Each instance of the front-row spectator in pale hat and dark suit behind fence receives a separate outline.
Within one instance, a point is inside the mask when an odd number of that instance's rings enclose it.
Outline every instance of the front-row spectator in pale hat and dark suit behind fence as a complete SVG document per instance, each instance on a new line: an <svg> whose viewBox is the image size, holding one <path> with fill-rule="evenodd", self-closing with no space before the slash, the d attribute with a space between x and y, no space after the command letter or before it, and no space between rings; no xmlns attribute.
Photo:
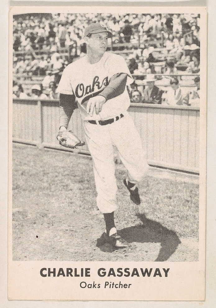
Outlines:
<svg viewBox="0 0 216 308"><path fill-rule="evenodd" d="M161 104L163 91L155 86L156 79L154 75L147 75L145 82L145 89L143 92L143 103Z"/></svg>

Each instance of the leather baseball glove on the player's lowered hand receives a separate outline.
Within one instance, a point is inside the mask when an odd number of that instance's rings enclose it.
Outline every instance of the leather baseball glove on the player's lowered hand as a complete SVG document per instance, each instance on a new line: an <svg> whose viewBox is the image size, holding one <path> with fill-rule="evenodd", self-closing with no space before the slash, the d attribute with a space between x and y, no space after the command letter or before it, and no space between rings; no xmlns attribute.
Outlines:
<svg viewBox="0 0 216 308"><path fill-rule="evenodd" d="M71 130L59 131L57 140L63 147L69 147L71 149L74 149L78 146L83 146L85 144L85 142L80 141L80 139L77 138Z"/></svg>

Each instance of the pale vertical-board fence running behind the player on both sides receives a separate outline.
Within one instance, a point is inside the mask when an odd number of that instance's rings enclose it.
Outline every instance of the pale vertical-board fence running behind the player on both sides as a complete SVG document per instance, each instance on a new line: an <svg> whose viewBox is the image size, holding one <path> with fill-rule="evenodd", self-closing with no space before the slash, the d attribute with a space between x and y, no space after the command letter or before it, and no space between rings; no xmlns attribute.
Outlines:
<svg viewBox="0 0 216 308"><path fill-rule="evenodd" d="M13 100L13 141L62 149L56 135L57 100ZM128 109L138 129L150 165L199 173L199 107L131 104ZM75 110L69 128L85 139L83 121ZM87 146L73 150L90 154Z"/></svg>

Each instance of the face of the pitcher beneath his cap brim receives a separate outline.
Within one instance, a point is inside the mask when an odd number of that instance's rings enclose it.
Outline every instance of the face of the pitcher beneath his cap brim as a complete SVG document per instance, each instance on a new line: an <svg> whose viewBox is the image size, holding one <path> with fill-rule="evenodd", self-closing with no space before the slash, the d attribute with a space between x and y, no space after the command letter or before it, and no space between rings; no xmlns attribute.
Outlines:
<svg viewBox="0 0 216 308"><path fill-rule="evenodd" d="M108 46L107 39L107 32L95 33L92 34L91 37L88 39L88 44L90 48L95 51L95 53L104 54Z"/></svg>

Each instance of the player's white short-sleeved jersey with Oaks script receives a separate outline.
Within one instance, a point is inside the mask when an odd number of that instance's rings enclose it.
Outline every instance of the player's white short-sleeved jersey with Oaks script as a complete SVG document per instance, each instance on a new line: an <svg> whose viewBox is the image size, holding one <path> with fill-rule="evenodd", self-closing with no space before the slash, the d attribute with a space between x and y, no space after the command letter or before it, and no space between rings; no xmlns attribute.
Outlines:
<svg viewBox="0 0 216 308"><path fill-rule="evenodd" d="M134 81L122 56L105 52L99 62L94 64L90 64L87 56L84 56L64 69L56 92L76 96L83 120L110 119L123 113L130 106L126 88L121 95L108 100L98 115L94 110L93 116L90 117L86 112L86 105L91 97L103 91L110 78L117 73L128 75L127 85Z"/></svg>

